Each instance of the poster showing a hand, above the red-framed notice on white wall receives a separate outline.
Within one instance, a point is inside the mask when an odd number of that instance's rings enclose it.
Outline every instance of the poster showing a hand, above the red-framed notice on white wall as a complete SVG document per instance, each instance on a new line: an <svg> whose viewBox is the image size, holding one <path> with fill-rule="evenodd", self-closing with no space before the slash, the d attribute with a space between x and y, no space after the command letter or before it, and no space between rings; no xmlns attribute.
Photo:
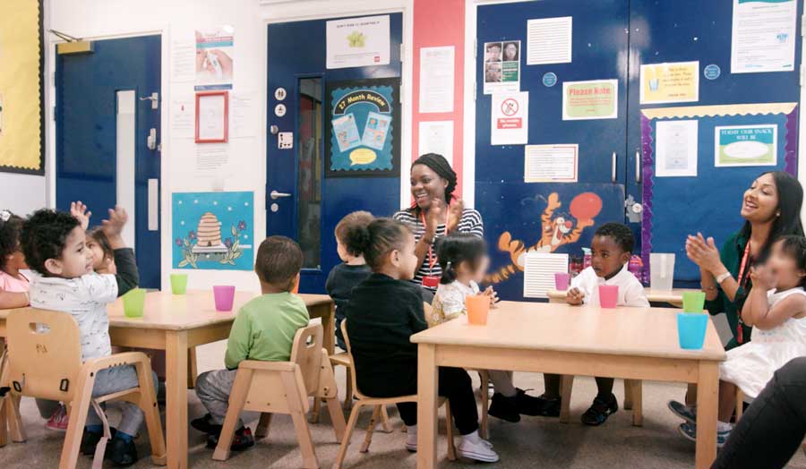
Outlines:
<svg viewBox="0 0 806 469"><path fill-rule="evenodd" d="M196 90L232 90L235 30L196 30Z"/></svg>

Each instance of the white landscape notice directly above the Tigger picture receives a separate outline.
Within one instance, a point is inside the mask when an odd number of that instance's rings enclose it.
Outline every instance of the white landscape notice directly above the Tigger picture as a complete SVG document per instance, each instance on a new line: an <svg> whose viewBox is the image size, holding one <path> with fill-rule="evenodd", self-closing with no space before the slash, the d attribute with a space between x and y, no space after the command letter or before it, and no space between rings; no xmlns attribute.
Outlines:
<svg viewBox="0 0 806 469"><path fill-rule="evenodd" d="M579 145L527 145L524 148L525 183L576 183Z"/></svg>

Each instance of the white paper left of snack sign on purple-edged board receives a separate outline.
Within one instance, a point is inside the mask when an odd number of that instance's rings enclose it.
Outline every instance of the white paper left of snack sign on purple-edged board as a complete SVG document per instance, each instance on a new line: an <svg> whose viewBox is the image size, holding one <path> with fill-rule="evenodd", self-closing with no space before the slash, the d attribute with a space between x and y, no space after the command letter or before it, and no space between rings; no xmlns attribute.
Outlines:
<svg viewBox="0 0 806 469"><path fill-rule="evenodd" d="M697 121L658 121L656 177L697 175Z"/></svg>

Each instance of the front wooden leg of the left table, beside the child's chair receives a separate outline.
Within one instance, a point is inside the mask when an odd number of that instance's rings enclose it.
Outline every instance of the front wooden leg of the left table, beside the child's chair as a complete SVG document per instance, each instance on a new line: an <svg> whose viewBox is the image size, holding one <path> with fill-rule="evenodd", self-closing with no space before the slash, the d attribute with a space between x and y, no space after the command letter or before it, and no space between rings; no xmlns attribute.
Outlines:
<svg viewBox="0 0 806 469"><path fill-rule="evenodd" d="M167 467L187 467L187 332L169 330L165 337Z"/></svg>

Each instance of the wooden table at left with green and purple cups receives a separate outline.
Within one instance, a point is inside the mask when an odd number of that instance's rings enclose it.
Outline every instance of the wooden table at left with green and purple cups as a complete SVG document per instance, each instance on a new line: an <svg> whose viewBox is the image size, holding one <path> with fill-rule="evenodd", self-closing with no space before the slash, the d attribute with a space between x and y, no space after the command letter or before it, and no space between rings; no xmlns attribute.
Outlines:
<svg viewBox="0 0 806 469"><path fill-rule="evenodd" d="M257 294L237 292L233 311L215 311L211 291L146 294L142 318L126 318L120 300L109 305L109 336L112 345L153 348L166 352L166 444L167 466L187 467L188 354L198 345L229 337L236 312ZM329 354L335 347L334 306L325 294L301 294L311 318L321 318L323 345ZM5 337L5 318L13 310L0 310L0 337ZM223 360L223 356L221 359Z"/></svg>

